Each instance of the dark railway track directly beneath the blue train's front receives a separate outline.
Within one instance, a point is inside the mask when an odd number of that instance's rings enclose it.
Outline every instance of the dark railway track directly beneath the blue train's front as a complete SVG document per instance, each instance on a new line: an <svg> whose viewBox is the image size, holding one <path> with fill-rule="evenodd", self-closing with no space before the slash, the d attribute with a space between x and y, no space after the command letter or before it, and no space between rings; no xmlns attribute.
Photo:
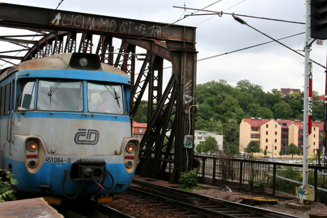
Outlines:
<svg viewBox="0 0 327 218"><path fill-rule="evenodd" d="M68 201L65 205L54 208L65 218L134 218L126 213L115 210L106 205L97 206L90 199Z"/></svg>

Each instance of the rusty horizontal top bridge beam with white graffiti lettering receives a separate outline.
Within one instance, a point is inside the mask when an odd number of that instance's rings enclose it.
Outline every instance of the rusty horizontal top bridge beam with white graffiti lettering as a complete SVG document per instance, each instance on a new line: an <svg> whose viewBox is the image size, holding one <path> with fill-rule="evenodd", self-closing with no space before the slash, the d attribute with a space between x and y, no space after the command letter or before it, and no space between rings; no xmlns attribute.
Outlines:
<svg viewBox="0 0 327 218"><path fill-rule="evenodd" d="M2 3L0 23L2 26L15 26L16 28L33 26L37 29L43 26L43 30L84 30L157 40L195 42L194 27L179 25L166 27L168 24L72 11L56 10L53 14L52 12L53 9ZM52 15L49 18L50 14ZM166 28L160 30L164 27Z"/></svg>

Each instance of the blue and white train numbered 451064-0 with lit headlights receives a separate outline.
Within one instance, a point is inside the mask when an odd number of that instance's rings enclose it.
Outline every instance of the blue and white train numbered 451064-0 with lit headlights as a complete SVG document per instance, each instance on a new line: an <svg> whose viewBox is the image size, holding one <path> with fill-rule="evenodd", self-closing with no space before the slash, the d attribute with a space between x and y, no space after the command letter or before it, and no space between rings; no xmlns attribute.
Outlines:
<svg viewBox="0 0 327 218"><path fill-rule="evenodd" d="M128 188L139 142L125 72L66 53L0 73L0 168L16 175L17 190L74 199Z"/></svg>

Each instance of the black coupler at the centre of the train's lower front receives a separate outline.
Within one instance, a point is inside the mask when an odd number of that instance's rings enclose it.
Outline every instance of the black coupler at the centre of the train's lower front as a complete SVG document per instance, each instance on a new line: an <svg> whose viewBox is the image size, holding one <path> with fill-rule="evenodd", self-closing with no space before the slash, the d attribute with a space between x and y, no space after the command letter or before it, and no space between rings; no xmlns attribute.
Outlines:
<svg viewBox="0 0 327 218"><path fill-rule="evenodd" d="M70 178L75 181L102 181L107 167L104 159L77 160L70 170Z"/></svg>

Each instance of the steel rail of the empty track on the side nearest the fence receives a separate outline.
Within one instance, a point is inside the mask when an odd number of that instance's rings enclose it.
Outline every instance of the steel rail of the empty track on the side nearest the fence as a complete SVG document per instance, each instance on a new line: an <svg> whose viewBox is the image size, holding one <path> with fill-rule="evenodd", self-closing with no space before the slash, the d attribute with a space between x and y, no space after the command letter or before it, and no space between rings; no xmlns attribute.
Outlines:
<svg viewBox="0 0 327 218"><path fill-rule="evenodd" d="M270 217L270 218L271 217L298 218L298 216L293 216L293 215L289 215L289 214L285 214L285 213L280 213L280 212L275 212L275 211L271 211L271 210L267 210L267 209L249 206L249 205L230 202L230 201L226 201L226 200L222 200L222 199L212 198L212 197L208 197L205 195L196 194L196 193L192 193L192 192L188 192L188 191L183 191L183 190L179 190L179 189L175 189L175 188L170 188L167 186L161 186L161 185L157 185L157 184L153 184L153 183L149 183L149 182L145 182L145 181L141 181L141 180L133 179L132 185L133 184L137 184L139 186L145 187L148 190L151 190L151 192L155 192L158 195L161 195L161 196L165 195L166 198L168 196L171 196L172 198L175 199L175 201L181 200L183 202L189 201L191 203L191 202L194 202L194 199L198 199L201 201L218 204L217 206L230 207L231 209L235 209L238 211L246 211L249 213L248 215L250 215L251 213L252 214L255 213L258 216ZM137 187L133 187L133 188L140 189ZM145 189L142 189L142 191L146 192ZM221 213L224 214L223 212L221 212ZM238 215L235 215L235 216L239 217Z"/></svg>

